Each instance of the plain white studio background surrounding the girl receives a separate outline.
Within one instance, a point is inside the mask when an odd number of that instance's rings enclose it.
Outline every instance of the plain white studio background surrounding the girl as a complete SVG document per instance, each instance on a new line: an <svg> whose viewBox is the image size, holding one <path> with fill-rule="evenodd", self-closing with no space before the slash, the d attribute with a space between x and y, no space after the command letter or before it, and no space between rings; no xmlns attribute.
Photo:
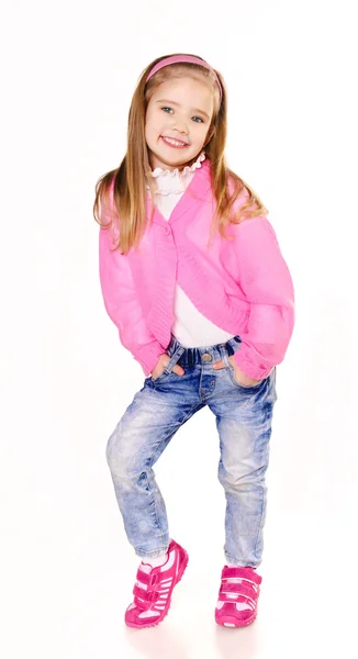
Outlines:
<svg viewBox="0 0 358 659"><path fill-rule="evenodd" d="M357 651L355 2L20 2L1 10L1 638L4 659L301 659ZM137 558L105 445L142 387L98 277L97 179L142 70L198 54L228 89L230 166L269 209L297 294L278 368L259 616L215 626L224 493L199 412L156 473L189 568L133 632Z"/></svg>

